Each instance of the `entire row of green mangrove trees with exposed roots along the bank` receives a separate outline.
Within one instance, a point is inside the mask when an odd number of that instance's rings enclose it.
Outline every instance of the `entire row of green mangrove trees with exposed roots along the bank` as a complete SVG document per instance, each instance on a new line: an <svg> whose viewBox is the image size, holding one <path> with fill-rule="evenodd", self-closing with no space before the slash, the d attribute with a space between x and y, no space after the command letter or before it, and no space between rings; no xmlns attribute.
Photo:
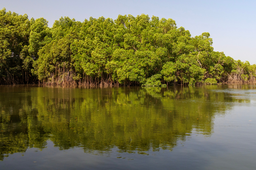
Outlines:
<svg viewBox="0 0 256 170"><path fill-rule="evenodd" d="M0 84L161 86L255 82L256 65L215 52L209 33L191 37L148 15L44 18L0 11Z"/></svg>

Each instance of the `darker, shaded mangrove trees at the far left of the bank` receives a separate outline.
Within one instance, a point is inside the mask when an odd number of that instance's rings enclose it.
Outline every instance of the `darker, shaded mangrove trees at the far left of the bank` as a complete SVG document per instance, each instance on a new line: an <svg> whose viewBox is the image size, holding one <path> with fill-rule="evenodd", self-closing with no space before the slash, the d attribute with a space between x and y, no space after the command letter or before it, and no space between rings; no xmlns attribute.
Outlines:
<svg viewBox="0 0 256 170"><path fill-rule="evenodd" d="M28 53L30 25L26 14L0 10L0 84L27 82L32 68Z"/></svg>

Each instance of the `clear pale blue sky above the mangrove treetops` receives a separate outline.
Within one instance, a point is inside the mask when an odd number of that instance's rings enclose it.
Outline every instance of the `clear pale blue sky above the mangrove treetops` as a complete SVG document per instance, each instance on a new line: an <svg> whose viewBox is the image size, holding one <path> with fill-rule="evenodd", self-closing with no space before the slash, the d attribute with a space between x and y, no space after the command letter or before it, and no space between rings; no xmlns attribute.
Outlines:
<svg viewBox="0 0 256 170"><path fill-rule="evenodd" d="M209 32L214 51L224 52L235 60L256 64L256 1L193 0L0 0L0 8L29 18L45 18L52 27L61 16L83 22L90 17L112 18L119 14L172 18L177 27L189 30L191 36Z"/></svg>

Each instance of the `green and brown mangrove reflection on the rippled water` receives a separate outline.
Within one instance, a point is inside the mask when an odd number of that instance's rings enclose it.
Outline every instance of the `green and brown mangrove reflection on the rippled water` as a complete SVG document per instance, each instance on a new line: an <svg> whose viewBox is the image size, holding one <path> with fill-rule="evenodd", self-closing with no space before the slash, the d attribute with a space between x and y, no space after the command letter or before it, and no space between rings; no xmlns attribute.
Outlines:
<svg viewBox="0 0 256 170"><path fill-rule="evenodd" d="M214 114L232 107L227 88L249 86L38 88L1 86L0 160L27 148L147 154L172 150L195 131L213 133ZM244 101L244 102L249 102Z"/></svg>

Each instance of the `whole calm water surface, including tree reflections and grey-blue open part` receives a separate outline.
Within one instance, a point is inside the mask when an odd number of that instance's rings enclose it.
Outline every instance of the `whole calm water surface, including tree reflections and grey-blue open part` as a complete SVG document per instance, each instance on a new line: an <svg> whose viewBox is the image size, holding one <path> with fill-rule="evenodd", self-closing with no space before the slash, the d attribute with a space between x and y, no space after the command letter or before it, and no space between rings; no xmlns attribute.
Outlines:
<svg viewBox="0 0 256 170"><path fill-rule="evenodd" d="M256 85L0 86L0 169L256 169Z"/></svg>

